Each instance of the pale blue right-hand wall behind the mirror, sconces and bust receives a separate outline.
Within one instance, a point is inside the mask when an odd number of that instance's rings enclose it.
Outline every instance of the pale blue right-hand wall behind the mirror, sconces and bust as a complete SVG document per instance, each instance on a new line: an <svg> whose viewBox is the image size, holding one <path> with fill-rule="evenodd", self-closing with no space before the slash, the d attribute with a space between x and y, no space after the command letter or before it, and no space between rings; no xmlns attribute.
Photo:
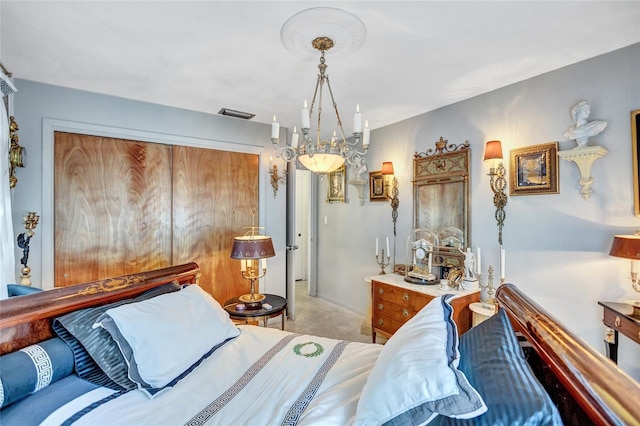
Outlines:
<svg viewBox="0 0 640 426"><path fill-rule="evenodd" d="M416 84L420 84L416 82ZM507 281L516 284L588 343L603 350L599 300L640 299L631 289L627 261L608 256L616 233L640 228L633 216L630 111L640 109L640 45L544 74L530 80L414 117L372 133L369 170L393 161L400 184L397 263L406 262L405 242L412 223L414 151L434 147L443 136L450 143L471 144L472 237L482 247L483 266L499 265L489 165L484 143L502 141L507 161L513 148L563 141L572 124L571 108L591 103L591 120L607 128L590 140L609 153L592 169L593 195L584 200L574 163L560 160L558 195L509 197L504 227ZM352 172L350 170L350 172ZM388 203L360 206L353 187L349 203L327 204L321 185L319 294L366 313L370 296L363 279L379 271L375 237L392 237ZM485 269L486 270L486 269ZM640 347L620 338L620 365L640 380Z"/></svg>

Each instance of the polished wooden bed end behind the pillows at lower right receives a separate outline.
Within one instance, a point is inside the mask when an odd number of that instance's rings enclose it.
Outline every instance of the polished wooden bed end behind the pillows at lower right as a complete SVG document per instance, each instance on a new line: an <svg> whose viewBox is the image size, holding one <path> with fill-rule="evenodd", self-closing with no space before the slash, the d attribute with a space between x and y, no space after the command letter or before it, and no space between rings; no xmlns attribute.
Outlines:
<svg viewBox="0 0 640 426"><path fill-rule="evenodd" d="M514 285L496 297L535 350L530 364L567 424L640 424L640 384Z"/></svg>

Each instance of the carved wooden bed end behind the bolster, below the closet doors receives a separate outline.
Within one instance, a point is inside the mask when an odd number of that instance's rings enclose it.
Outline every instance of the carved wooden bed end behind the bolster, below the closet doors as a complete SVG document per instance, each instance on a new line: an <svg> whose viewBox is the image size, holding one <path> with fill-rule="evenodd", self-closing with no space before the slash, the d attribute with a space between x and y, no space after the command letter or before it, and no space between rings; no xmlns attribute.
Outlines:
<svg viewBox="0 0 640 426"><path fill-rule="evenodd" d="M53 337L51 321L90 306L136 297L162 284L197 283L196 263L92 281L0 300L0 355Z"/></svg>

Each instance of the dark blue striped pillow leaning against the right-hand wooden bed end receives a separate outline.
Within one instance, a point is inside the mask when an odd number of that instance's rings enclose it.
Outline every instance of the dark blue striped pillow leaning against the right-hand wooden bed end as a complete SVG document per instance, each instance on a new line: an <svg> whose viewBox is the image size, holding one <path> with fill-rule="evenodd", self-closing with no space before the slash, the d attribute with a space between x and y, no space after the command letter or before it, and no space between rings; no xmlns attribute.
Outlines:
<svg viewBox="0 0 640 426"><path fill-rule="evenodd" d="M440 417L441 425L561 425L504 310L460 337L460 370L482 395L487 412L472 419Z"/></svg>

